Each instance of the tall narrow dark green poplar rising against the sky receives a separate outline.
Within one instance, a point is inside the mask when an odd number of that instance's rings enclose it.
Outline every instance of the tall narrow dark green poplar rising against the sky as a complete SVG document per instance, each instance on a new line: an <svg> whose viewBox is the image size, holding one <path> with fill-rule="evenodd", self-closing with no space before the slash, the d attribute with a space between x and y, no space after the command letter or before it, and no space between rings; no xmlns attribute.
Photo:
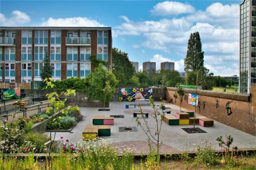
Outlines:
<svg viewBox="0 0 256 170"><path fill-rule="evenodd" d="M202 52L202 43L199 32L191 33L188 40L188 50L184 61L184 70L193 72L204 66L204 52Z"/></svg>

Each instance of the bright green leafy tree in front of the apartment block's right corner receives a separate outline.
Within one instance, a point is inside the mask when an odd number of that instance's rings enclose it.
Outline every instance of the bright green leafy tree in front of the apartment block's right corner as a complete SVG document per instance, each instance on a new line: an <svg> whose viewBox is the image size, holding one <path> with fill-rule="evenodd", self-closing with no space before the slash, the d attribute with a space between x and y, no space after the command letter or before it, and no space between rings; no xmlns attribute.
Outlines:
<svg viewBox="0 0 256 170"><path fill-rule="evenodd" d="M115 87L118 81L110 70L103 68L101 63L98 67L95 67L94 72L88 75L85 79L86 83L88 84L86 90L88 99L100 100L108 103L115 94ZM106 82L109 82L111 92L105 98L103 89L106 86Z"/></svg>

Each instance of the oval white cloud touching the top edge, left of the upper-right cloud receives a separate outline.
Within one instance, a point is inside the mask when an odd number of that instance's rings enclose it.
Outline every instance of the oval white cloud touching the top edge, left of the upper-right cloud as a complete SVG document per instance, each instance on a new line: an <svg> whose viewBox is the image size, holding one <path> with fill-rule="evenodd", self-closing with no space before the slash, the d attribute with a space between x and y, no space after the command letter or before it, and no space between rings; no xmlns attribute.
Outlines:
<svg viewBox="0 0 256 170"><path fill-rule="evenodd" d="M153 15L179 15L185 13L195 12L195 8L190 4L174 2L174 1L165 1L156 4L152 10L150 10Z"/></svg>

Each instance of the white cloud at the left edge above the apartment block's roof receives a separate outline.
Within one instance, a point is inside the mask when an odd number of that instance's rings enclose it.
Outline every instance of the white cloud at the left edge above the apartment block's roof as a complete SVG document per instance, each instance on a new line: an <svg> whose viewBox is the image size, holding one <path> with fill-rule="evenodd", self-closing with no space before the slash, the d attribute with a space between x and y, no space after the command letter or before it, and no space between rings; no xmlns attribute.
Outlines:
<svg viewBox="0 0 256 170"><path fill-rule="evenodd" d="M19 26L30 21L30 17L25 13L18 10L12 11L11 17L6 18L6 16L0 13L0 25L1 26Z"/></svg>

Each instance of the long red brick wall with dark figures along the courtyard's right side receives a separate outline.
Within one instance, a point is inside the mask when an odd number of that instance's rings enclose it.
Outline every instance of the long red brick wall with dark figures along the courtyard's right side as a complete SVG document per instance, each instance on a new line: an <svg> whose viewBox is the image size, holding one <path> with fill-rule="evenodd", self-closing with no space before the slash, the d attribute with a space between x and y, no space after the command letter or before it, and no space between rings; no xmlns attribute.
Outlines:
<svg viewBox="0 0 256 170"><path fill-rule="evenodd" d="M167 100L173 99L173 104L180 106L179 96L176 100L173 98L173 92L175 88L167 88L166 98ZM185 90L186 95L195 90ZM226 124L238 130L250 133L256 136L256 85L251 85L251 96L246 97L238 94L224 94L218 92L198 92L198 101L201 103L201 109L199 111L198 106L196 107L196 113L203 116L212 118L215 121ZM221 97L220 97L221 96ZM218 99L219 107L216 108L216 100ZM203 109L203 102L205 101L205 109ZM229 105L231 115L227 114L226 103L232 101ZM182 100L181 107L195 110L195 107L189 105L185 100L185 97Z"/></svg>

